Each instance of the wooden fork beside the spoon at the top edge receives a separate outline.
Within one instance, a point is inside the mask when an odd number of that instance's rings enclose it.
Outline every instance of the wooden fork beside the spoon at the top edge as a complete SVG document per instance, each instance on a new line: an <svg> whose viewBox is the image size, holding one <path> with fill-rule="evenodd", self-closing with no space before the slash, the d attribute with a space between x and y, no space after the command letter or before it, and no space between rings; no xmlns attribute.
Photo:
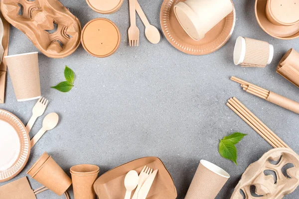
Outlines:
<svg viewBox="0 0 299 199"><path fill-rule="evenodd" d="M139 46L139 29L136 25L136 0L129 0L130 28L128 30L130 46Z"/></svg>

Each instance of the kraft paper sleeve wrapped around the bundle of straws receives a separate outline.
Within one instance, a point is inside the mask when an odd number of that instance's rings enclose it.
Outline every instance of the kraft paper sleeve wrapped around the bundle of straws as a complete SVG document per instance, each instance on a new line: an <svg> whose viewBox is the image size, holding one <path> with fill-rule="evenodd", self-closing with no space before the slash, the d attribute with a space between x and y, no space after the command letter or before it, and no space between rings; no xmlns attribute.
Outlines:
<svg viewBox="0 0 299 199"><path fill-rule="evenodd" d="M270 91L267 101L299 114L299 103Z"/></svg>

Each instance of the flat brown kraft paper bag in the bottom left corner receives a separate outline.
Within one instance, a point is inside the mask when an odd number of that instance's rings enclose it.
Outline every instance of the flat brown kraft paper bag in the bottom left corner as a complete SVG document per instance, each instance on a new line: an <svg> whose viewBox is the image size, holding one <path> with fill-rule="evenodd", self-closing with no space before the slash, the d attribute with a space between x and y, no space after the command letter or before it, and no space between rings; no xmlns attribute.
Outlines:
<svg viewBox="0 0 299 199"><path fill-rule="evenodd" d="M0 199L36 199L26 177L0 187Z"/></svg>

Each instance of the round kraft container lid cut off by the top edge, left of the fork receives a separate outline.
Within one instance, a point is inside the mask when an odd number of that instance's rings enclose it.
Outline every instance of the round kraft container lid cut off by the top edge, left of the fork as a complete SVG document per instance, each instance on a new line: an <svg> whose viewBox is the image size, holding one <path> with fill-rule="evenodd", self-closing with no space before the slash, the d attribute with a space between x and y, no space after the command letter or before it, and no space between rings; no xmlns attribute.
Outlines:
<svg viewBox="0 0 299 199"><path fill-rule="evenodd" d="M96 12L111 14L122 6L124 0L86 0L86 2Z"/></svg>

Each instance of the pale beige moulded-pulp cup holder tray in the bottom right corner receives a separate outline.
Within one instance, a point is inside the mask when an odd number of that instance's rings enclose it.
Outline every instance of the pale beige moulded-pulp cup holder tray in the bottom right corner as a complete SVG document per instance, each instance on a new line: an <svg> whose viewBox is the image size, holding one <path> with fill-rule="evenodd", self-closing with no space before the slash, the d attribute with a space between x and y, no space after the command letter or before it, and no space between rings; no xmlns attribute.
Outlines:
<svg viewBox="0 0 299 199"><path fill-rule="evenodd" d="M298 173L299 156L294 151L286 148L272 149L249 165L231 199L243 199L243 195L245 199L282 199L298 187Z"/></svg>

